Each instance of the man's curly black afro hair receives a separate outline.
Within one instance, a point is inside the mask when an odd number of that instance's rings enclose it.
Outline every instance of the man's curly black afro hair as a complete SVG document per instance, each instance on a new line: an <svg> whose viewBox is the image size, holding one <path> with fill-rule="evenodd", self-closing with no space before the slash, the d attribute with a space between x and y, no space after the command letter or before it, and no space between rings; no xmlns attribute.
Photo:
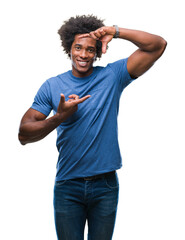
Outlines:
<svg viewBox="0 0 185 240"><path fill-rule="evenodd" d="M103 20L93 15L77 15L76 17L71 17L69 20L65 21L58 30L64 52L70 57L71 46L76 34L89 33L103 26L105 26ZM101 58L102 43L99 40L96 41L96 54L98 58Z"/></svg>

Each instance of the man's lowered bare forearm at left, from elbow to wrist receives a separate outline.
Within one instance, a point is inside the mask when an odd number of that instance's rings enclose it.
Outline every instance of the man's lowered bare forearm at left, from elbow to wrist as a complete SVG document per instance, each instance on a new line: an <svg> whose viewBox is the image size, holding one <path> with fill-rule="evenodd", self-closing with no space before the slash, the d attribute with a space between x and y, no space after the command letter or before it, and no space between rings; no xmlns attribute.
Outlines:
<svg viewBox="0 0 185 240"><path fill-rule="evenodd" d="M19 128L19 141L22 145L39 141L56 129L61 122L61 117L56 114L45 120L22 123Z"/></svg>

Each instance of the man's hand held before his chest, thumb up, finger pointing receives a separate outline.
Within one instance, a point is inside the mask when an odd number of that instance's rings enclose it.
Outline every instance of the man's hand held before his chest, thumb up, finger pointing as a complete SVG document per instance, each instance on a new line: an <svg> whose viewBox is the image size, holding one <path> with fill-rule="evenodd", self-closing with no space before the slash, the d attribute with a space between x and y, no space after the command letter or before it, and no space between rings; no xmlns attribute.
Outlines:
<svg viewBox="0 0 185 240"><path fill-rule="evenodd" d="M87 95L85 97L79 98L78 95L72 94L68 96L69 100L65 101L64 94L61 94L60 96L60 102L56 114L61 117L62 122L78 110L79 103L84 102L90 97L90 95Z"/></svg>

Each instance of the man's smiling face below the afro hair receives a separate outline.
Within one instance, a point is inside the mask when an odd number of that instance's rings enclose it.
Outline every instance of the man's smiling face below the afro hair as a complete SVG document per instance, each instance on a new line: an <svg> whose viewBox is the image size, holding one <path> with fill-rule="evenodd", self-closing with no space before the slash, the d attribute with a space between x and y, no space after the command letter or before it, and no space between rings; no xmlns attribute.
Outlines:
<svg viewBox="0 0 185 240"><path fill-rule="evenodd" d="M96 58L96 40L90 37L75 36L71 46L72 73L75 77L87 77L93 71Z"/></svg>

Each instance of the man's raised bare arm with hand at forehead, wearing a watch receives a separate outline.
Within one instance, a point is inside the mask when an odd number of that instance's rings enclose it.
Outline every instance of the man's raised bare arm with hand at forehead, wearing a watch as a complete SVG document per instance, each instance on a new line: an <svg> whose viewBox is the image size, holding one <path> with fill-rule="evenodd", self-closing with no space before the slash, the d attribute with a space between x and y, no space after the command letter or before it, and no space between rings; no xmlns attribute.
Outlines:
<svg viewBox="0 0 185 240"><path fill-rule="evenodd" d="M102 27L84 36L90 36L102 42L102 52L106 53L107 44L115 35L115 27ZM119 28L119 38L134 43L138 49L128 58L127 69L135 78L145 73L163 54L167 42L160 36L138 30Z"/></svg>

